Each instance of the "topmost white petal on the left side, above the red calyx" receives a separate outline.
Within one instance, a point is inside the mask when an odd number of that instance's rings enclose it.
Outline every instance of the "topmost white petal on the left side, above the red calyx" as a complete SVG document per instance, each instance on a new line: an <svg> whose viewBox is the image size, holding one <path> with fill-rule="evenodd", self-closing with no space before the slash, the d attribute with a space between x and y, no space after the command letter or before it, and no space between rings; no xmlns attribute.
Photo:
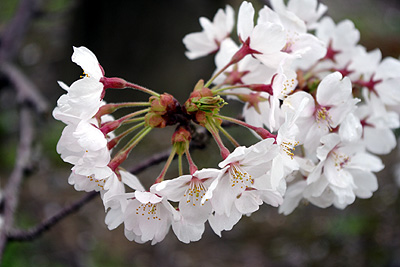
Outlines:
<svg viewBox="0 0 400 267"><path fill-rule="evenodd" d="M75 47L72 54L72 61L78 64L89 77L100 80L103 77L103 72L100 69L99 61L92 51L84 46Z"/></svg>

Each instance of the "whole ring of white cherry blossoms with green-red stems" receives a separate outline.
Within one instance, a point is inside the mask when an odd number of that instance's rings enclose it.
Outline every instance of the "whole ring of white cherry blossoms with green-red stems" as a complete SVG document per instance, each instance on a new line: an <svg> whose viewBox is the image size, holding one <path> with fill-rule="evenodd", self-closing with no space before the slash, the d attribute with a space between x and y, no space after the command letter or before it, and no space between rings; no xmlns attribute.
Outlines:
<svg viewBox="0 0 400 267"><path fill-rule="evenodd" d="M186 55L215 54L216 70L196 84L184 104L170 94L105 77L92 52L74 48L72 60L85 75L70 87L60 83L67 94L53 115L67 126L57 151L74 165L69 183L75 189L100 192L109 229L123 224L129 240L155 244L172 227L188 243L201 238L207 221L221 235L263 203L283 214L302 200L343 209L378 189L374 173L384 166L376 155L396 146L400 62L382 60L378 49L366 51L353 23L323 17L327 8L316 0L287 5L271 0L271 6L264 6L255 22L252 4L243 2L237 35L230 6L218 10L213 21L200 18L203 30L183 39ZM134 88L151 97L106 104L108 88ZM243 103L243 120L220 114L228 100ZM117 120L110 115L130 107L142 109ZM224 121L250 129L259 141L240 146ZM121 131L122 125L131 126ZM171 154L145 189L120 165L148 132L172 125ZM219 168L199 170L194 163L189 144L197 127L217 143ZM221 134L235 149L225 146ZM165 179L175 156L180 176Z"/></svg>

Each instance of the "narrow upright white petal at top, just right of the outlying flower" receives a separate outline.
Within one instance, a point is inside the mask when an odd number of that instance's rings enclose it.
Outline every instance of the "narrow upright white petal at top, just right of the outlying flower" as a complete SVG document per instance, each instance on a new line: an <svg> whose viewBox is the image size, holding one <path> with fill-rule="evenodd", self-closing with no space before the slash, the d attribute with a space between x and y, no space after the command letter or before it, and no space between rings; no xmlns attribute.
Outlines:
<svg viewBox="0 0 400 267"><path fill-rule="evenodd" d="M237 32L240 39L243 42L250 37L250 34L254 28L254 8L249 2L244 1L238 14Z"/></svg>

